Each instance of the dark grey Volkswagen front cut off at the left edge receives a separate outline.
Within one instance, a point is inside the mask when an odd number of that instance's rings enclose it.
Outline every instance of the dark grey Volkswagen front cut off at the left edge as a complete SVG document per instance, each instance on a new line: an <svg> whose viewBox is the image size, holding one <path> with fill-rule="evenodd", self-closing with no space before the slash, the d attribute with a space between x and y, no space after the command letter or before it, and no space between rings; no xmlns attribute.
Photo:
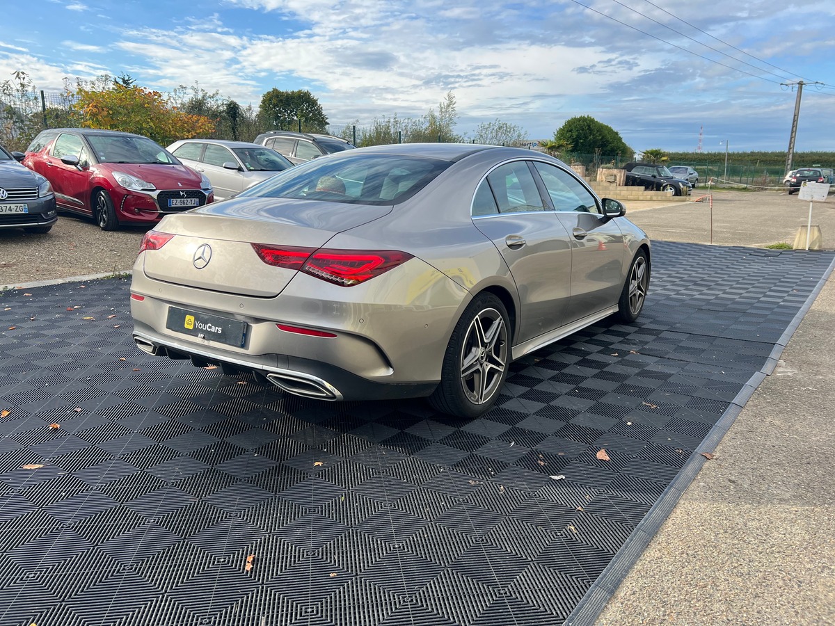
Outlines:
<svg viewBox="0 0 835 626"><path fill-rule="evenodd" d="M58 221L52 184L23 167L22 152L0 146L0 228L48 233Z"/></svg>

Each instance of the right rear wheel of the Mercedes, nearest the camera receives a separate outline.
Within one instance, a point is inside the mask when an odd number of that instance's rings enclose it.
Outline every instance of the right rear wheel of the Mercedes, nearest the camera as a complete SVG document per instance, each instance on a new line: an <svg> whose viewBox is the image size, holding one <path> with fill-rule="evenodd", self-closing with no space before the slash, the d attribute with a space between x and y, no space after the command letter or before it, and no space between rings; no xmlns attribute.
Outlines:
<svg viewBox="0 0 835 626"><path fill-rule="evenodd" d="M509 365L508 311L497 296L479 294L455 325L429 403L442 413L478 417L498 399Z"/></svg>

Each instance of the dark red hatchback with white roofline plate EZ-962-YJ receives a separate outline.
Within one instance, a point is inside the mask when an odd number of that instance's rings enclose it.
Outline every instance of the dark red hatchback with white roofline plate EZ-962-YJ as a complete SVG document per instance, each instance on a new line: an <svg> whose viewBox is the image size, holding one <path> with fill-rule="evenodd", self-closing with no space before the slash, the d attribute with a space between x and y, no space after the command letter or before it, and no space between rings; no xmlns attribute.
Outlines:
<svg viewBox="0 0 835 626"><path fill-rule="evenodd" d="M102 230L151 226L215 199L209 179L138 134L47 129L29 144L23 164L52 183L58 210L89 215Z"/></svg>

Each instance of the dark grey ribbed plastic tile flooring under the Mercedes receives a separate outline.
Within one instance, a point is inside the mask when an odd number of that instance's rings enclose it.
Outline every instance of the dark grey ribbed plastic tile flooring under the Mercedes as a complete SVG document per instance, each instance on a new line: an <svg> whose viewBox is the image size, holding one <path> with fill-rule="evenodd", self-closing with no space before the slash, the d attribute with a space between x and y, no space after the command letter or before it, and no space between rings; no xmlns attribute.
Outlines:
<svg viewBox="0 0 835 626"><path fill-rule="evenodd" d="M472 421L145 356L123 280L7 291L0 625L591 623L832 259L657 242L640 321Z"/></svg>

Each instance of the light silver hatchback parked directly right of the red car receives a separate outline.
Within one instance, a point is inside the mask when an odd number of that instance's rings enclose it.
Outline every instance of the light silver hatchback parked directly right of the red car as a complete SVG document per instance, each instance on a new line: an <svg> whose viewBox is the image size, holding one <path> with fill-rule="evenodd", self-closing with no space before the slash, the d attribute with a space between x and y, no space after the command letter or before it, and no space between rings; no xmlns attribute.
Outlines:
<svg viewBox="0 0 835 626"><path fill-rule="evenodd" d="M293 166L282 154L259 144L226 139L180 139L167 150L196 169L223 200Z"/></svg>

